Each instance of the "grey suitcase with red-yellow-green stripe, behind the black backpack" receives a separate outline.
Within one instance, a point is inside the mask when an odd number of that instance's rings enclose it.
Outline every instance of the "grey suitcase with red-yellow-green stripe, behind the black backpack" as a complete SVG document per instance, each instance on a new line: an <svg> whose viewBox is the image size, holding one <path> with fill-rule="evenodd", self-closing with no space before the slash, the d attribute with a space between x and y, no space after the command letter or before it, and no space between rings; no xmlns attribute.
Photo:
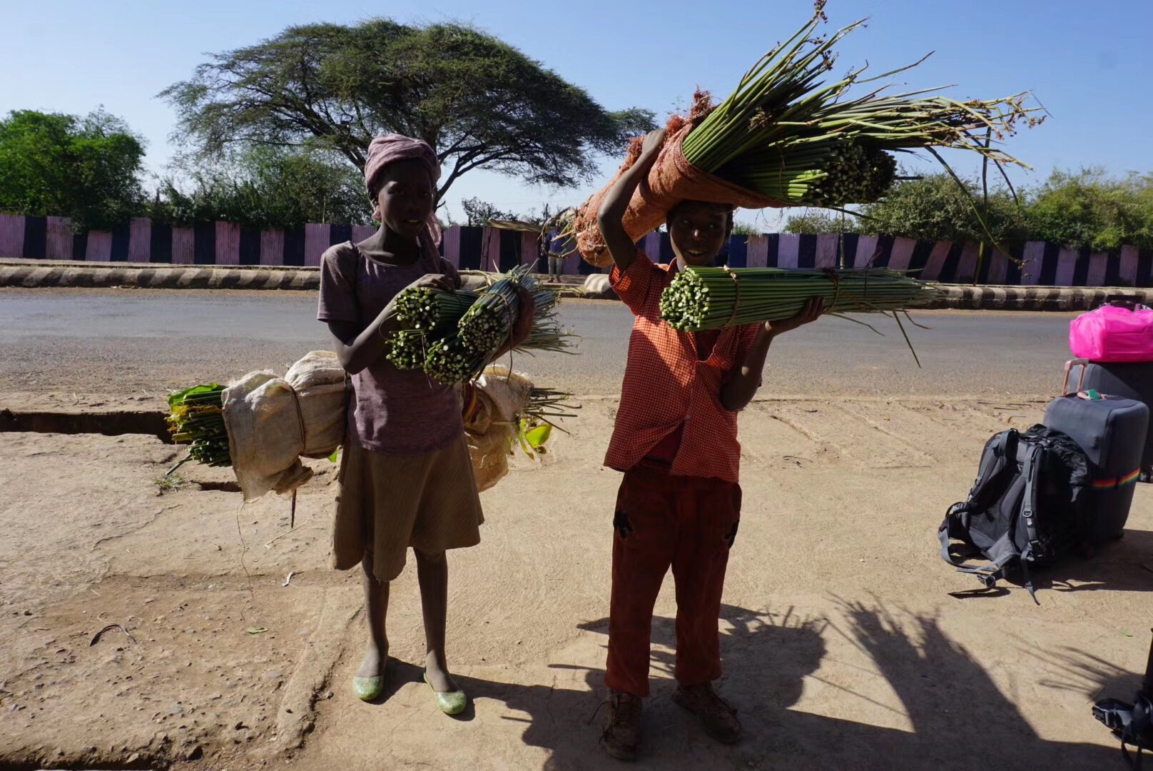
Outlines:
<svg viewBox="0 0 1153 771"><path fill-rule="evenodd" d="M1049 403L1045 425L1068 434L1088 456L1093 473L1090 537L1094 541L1120 538L1140 476L1150 409L1120 396L1090 398L1079 384L1069 392L1068 374L1067 369L1065 396Z"/></svg>

